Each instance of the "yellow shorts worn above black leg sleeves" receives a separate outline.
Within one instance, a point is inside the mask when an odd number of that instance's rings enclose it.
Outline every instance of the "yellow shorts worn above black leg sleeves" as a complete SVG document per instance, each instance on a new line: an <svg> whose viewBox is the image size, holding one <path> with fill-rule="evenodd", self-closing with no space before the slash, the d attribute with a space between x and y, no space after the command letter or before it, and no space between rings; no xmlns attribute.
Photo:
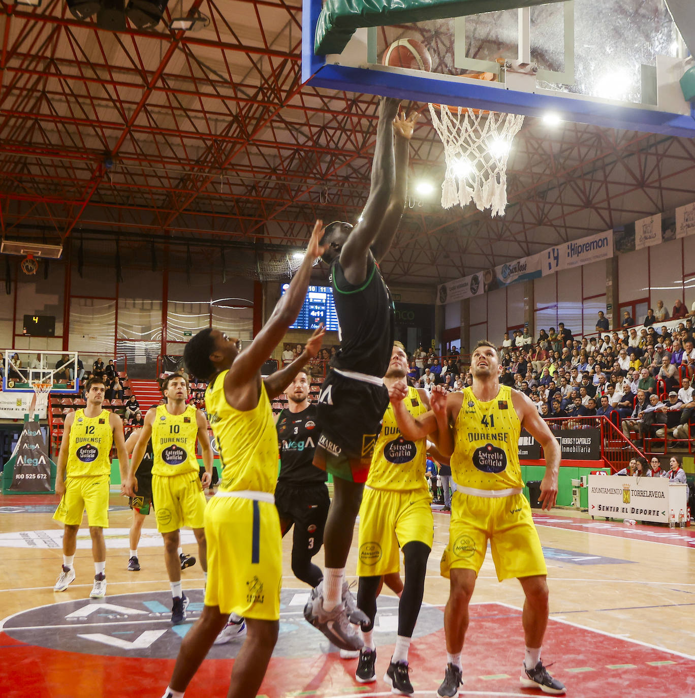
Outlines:
<svg viewBox="0 0 695 698"><path fill-rule="evenodd" d="M401 568L399 548L418 540L432 547L434 523L426 490L365 488L359 509L357 574L380 577Z"/></svg>

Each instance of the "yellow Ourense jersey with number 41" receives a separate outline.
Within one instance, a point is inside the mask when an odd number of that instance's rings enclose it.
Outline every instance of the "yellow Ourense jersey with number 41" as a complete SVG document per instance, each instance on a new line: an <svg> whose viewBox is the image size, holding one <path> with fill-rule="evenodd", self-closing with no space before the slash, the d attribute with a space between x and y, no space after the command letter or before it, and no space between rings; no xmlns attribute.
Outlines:
<svg viewBox="0 0 695 698"><path fill-rule="evenodd" d="M463 487L474 489L523 488L518 440L521 433L511 388L500 385L494 400L477 400L473 390L463 390L456 417L451 474Z"/></svg>

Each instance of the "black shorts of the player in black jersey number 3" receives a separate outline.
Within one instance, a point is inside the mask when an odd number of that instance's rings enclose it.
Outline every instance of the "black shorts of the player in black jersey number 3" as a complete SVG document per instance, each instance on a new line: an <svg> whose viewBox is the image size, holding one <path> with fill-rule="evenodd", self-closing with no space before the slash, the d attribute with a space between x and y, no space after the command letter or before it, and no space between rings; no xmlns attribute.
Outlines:
<svg viewBox="0 0 695 698"><path fill-rule="evenodd" d="M323 530L330 505L331 498L325 484L292 487L278 482L275 489L275 506L283 535L294 523L293 547L306 547L311 555L315 555L323 544Z"/></svg>

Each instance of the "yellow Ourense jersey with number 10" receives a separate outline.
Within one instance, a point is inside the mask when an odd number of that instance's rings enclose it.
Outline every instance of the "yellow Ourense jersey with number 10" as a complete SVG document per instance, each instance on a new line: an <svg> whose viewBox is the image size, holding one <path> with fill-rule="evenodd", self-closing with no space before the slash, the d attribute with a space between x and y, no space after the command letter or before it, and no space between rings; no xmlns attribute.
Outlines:
<svg viewBox="0 0 695 698"><path fill-rule="evenodd" d="M152 424L152 475L183 475L198 473L195 440L198 425L195 407L189 405L181 415L170 415L166 405L160 405Z"/></svg>

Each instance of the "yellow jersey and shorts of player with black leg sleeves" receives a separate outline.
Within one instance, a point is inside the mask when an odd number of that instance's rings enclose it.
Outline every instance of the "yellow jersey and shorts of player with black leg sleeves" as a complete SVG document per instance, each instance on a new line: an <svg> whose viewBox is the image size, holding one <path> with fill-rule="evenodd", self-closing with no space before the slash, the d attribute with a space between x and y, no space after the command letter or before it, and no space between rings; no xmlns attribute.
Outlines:
<svg viewBox="0 0 695 698"><path fill-rule="evenodd" d="M427 411L417 388L408 388L404 403L413 417ZM389 404L359 510L359 577L398 572L398 549L406 543L417 540L432 547L434 526L425 467L426 439L405 439Z"/></svg>

